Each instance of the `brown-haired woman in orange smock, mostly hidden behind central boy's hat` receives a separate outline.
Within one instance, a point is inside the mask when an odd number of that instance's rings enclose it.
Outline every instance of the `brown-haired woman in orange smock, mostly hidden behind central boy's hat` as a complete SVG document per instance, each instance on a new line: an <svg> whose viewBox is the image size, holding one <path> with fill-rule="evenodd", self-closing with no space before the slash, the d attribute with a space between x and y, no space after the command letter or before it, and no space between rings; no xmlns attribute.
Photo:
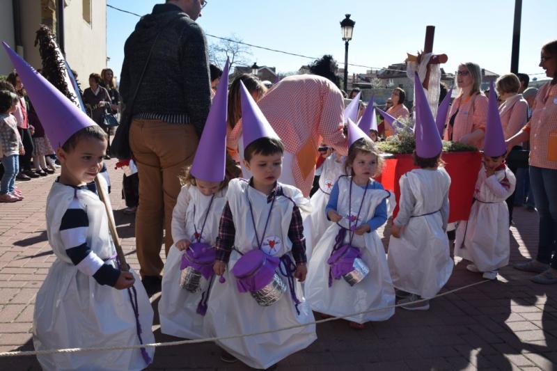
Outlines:
<svg viewBox="0 0 557 371"><path fill-rule="evenodd" d="M240 81L244 83L253 100L258 102L267 92L261 80L253 74L241 74L230 85L228 93L228 121L226 122L226 150L236 164L240 163L238 141L242 137L242 109L240 107Z"/></svg>

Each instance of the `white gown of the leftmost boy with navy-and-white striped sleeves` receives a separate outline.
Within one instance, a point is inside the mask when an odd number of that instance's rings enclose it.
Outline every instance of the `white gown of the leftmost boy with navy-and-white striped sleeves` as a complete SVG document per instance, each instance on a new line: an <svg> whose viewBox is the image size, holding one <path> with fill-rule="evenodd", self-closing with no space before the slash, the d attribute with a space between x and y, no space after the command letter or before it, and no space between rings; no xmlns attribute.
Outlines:
<svg viewBox="0 0 557 371"><path fill-rule="evenodd" d="M102 186L106 184L99 178ZM88 216L87 245L101 259L116 254L104 204L97 194L55 182L47 199L47 233L56 255L37 294L33 313L33 345L36 350L74 347L118 347L140 344L128 290L99 285L72 264L65 251L60 226L74 197ZM116 267L114 260L107 260ZM139 306L143 344L155 341L153 311L139 276L134 287ZM152 358L154 348L146 348ZM139 349L79 352L37 356L43 370L142 370L148 365Z"/></svg>

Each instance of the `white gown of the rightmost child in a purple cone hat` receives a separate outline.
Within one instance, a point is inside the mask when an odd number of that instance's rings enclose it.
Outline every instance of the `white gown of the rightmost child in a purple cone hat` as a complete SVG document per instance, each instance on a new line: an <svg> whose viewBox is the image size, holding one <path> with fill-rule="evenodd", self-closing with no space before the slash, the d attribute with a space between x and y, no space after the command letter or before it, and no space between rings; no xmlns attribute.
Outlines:
<svg viewBox="0 0 557 371"><path fill-rule="evenodd" d="M480 271L494 271L509 263L505 200L515 191L515 184L515 175L506 166L490 177L480 168L470 216L458 225L455 239L455 255L472 261Z"/></svg>

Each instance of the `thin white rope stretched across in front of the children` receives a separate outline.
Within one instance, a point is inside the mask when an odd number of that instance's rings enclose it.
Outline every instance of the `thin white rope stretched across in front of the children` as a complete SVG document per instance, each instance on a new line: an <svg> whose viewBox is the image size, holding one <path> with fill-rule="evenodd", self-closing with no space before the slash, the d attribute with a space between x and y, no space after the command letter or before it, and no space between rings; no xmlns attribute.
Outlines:
<svg viewBox="0 0 557 371"><path fill-rule="evenodd" d="M433 297L432 299L437 299L439 297L444 297L445 295L453 294L453 292L464 290L466 288L476 286L476 285L480 285L482 283L486 283L486 282L490 282L490 281L491 280L483 280L483 281L478 281L478 282L475 282L475 283L471 283L471 284L466 285L466 286L457 287L454 290L450 290L450 291L443 292L441 294L437 294L437 296ZM280 331L298 329L299 327L311 326L313 324L322 324L324 322L336 321L337 319L344 319L344 318L347 318L347 317L354 317L356 315L363 315L363 314L366 314L366 313L372 313L372 312L375 312L377 310L398 308L400 306L407 306L409 304L422 303L424 301L428 301L428 300L432 300L432 299L421 299L421 300L412 301L411 303L395 304L393 306L388 306L386 308L376 308L376 309L372 309L372 310L365 310L363 312L352 313L350 315L343 315L343 316L331 317L331 318L327 318L327 319L320 319L318 321L313 321L313 322L309 322L309 323L306 323L306 324L296 324L296 325L293 325L293 326L283 327L282 329L268 330L268 331L262 331L262 332L256 332L256 333L246 333L246 334L243 334L243 335L222 336L222 337L217 337L217 338L203 338L203 339L196 339L196 340L178 340L178 341L171 341L171 342L153 342L151 344L126 345L126 346L122 346L122 347L66 348L66 349L47 349L47 350L2 352L2 353L0 353L0 358L1 357L38 356L38 355L44 355L44 354L61 354L61 353L78 353L78 352L107 352L107 351L113 351L113 350L131 350L131 349L140 349L140 348L174 347L176 345L199 344L201 342L216 342L216 341L219 341L219 340L231 340L231 339L236 339L236 338L247 338L249 336L265 335L267 333L275 333L275 332L280 332Z"/></svg>

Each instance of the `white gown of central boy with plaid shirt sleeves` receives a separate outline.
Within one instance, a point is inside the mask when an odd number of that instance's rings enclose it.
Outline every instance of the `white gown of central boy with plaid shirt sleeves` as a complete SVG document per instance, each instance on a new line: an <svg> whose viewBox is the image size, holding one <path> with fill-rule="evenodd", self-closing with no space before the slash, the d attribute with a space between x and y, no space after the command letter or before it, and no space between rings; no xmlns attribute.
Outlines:
<svg viewBox="0 0 557 371"><path fill-rule="evenodd" d="M292 219L292 208L295 204L303 208L307 203L307 198L302 196L299 189L286 184L281 185L285 196L276 197L262 242L262 251L276 257L291 254L292 242L288 238L288 227ZM267 203L267 195L249 187L248 182L242 179L230 181L226 198L236 231L235 249L247 253L258 246L247 200L249 199L252 205L259 238L262 238L272 204ZM269 242L274 243L269 244ZM230 271L240 258L240 253L233 250L223 275L226 282L215 281L211 290L207 315L205 315L205 326L209 336L235 336L313 322L313 313L304 299L301 284L297 281L295 281L295 293L297 299L301 301L298 306L299 314L288 289L278 302L267 307L260 306L249 293L238 292L236 278ZM282 275L281 278L286 280ZM315 325L308 325L260 336L221 340L217 341L217 345L246 365L265 369L290 354L305 349L316 338Z"/></svg>

